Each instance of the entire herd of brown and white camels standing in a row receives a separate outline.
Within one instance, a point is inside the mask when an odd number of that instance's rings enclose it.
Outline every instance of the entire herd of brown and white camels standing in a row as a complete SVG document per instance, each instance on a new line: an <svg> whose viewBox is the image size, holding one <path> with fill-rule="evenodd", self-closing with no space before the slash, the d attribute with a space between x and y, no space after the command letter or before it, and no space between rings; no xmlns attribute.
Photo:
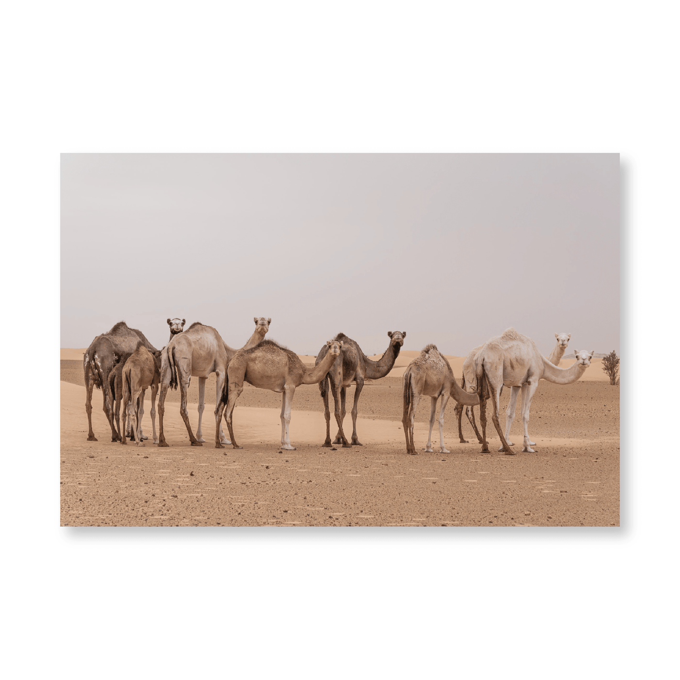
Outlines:
<svg viewBox="0 0 680 680"><path fill-rule="evenodd" d="M359 345L351 338L339 333L327 341L312 366L305 365L297 354L279 343L265 339L271 318L254 318L255 330L248 341L236 350L229 347L215 328L200 322L191 324L184 330L186 320L168 319L170 339L162 350L146 339L140 330L129 328L123 321L118 322L108 333L98 335L90 344L83 358L86 386L85 410L88 416L88 441L97 441L92 431L92 391L95 387L103 391L104 413L111 426L112 441L126 444L128 437L137 446L143 446L148 437L141 430L144 395L151 389L151 422L153 443L169 446L163 433L165 398L168 389L180 390L180 414L186 425L192 446L202 446L203 410L205 409L205 381L211 373L216 374L215 447L224 448L237 445L233 430L233 410L243 383L282 394L281 407L281 448L294 450L290 443L290 412L295 389L300 385L318 384L324 403L326 417L325 447L342 445L360 446L356 434L358 401L365 379L385 377L394 367L406 337L405 331L390 331L390 343L378 361L369 359ZM460 442L466 443L462 435L461 419L463 408L469 419L482 452L488 452L486 441L486 402L492 404L492 422L500 437L499 451L512 454L513 443L509 441L510 428L515 417L517 395L522 392L522 423L524 424L524 445L522 452L533 452L534 442L528 435L529 409L539 380L545 379L560 385L577 381L590 366L593 352L575 353L576 361L566 369L560 369L560 359L564 355L570 335L556 333L556 347L545 358L532 339L517 333L513 328L503 335L493 337L483 345L475 347L463 363L462 386L454 377L446 357L435 345L424 347L420 356L411 361L403 375L403 428L406 448L409 454L416 454L413 442L413 423L415 409L422 396L431 400L430 430L425 447L432 451L432 427L435 424L437 400L441 396L439 409L440 453L449 453L444 445L444 410L449 397L456 401L458 415L458 435ZM191 377L199 379L199 424L196 435L192 432L187 409L187 394ZM345 392L352 383L356 384L354 405L352 407L352 438L345 437L343 420L345 418ZM506 411L505 432L500 427L500 392L503 386L509 387L510 403ZM160 394L158 392L160 390ZM335 401L335 420L338 431L335 439L330 439L330 407L328 395L332 393ZM158 435L156 435L156 396L158 395ZM120 428L120 403L123 406L123 424ZM473 407L479 405L481 434L475 422ZM226 422L229 438L222 431L222 415Z"/></svg>

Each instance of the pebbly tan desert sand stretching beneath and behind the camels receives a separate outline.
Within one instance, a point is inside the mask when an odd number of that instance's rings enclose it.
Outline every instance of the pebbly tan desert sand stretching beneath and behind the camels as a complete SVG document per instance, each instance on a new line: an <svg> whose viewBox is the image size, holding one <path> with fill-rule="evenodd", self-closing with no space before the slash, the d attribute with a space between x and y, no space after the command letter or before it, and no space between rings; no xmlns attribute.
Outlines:
<svg viewBox="0 0 680 680"><path fill-rule="evenodd" d="M280 452L278 447L281 397L251 386L234 413L235 437L243 449L214 449L214 377L206 388L210 403L203 414L202 447L188 446L176 392L169 393L166 409L171 446L159 448L149 439L145 447L123 447L109 441L97 390L92 418L99 441L86 441L82 362L75 357L61 364L64 526L619 524L619 388L602 380L568 386L541 381L529 429L537 452L521 453L522 424L515 418L511 439L516 456L495 452L499 442L491 422L491 454L479 453L481 446L466 420L463 432L470 443L459 443L453 401L444 430L450 453L424 453L430 413L430 400L424 398L416 413L420 455L408 456L398 378L364 387L357 423L361 447L320 447L326 426L318 386L313 385L296 390L290 424L296 451ZM194 428L197 396L194 379L189 393ZM504 409L508 396L504 390ZM350 388L347 402L353 397ZM150 407L147 399L143 429L148 435ZM350 415L344 426L349 435ZM435 452L438 440L435 426Z"/></svg>

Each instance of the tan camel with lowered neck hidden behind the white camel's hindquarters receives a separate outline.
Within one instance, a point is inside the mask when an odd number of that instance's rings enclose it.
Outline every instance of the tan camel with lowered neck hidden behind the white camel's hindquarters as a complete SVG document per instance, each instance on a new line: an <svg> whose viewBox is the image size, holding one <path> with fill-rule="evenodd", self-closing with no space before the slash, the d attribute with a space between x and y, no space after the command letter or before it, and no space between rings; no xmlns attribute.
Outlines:
<svg viewBox="0 0 680 680"><path fill-rule="evenodd" d="M420 356L417 356L404 371L404 413L401 422L404 426L406 436L406 451L409 454L417 455L413 443L413 421L415 420L415 409L418 407L420 397L425 395L431 399L430 406L430 432L427 437L425 451L432 451L432 426L435 424L435 414L437 413L437 399L441 396L441 408L439 409L439 453L448 454L449 449L444 445L444 409L446 408L449 396L452 396L458 403L466 406L479 404L477 394L465 392L456 382L454 371L451 365L437 350L436 345L424 347Z"/></svg>

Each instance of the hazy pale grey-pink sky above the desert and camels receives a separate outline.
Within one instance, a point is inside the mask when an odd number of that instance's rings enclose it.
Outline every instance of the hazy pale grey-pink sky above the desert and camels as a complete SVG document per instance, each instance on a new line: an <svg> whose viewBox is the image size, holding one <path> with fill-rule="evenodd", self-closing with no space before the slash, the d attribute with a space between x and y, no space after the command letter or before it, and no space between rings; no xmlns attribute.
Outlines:
<svg viewBox="0 0 680 680"><path fill-rule="evenodd" d="M461 356L508 326L619 351L618 154L64 154L61 346L168 317L240 347L254 316Z"/></svg>

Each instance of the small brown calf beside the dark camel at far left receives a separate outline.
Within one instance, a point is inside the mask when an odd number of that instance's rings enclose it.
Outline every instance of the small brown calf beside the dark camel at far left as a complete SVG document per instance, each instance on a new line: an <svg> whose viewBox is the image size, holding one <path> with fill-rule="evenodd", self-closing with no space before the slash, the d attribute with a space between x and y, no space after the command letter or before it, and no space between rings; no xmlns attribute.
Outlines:
<svg viewBox="0 0 680 680"><path fill-rule="evenodd" d="M128 408L133 411L135 426L135 441L137 446L145 446L141 441L141 415L143 413L144 394L151 388L151 427L154 436L154 444L158 443L156 437L156 394L160 382L160 350L153 354L140 342L137 349L125 362L122 369L122 401L123 423L126 421ZM121 432L121 444L126 444L125 428Z"/></svg>

